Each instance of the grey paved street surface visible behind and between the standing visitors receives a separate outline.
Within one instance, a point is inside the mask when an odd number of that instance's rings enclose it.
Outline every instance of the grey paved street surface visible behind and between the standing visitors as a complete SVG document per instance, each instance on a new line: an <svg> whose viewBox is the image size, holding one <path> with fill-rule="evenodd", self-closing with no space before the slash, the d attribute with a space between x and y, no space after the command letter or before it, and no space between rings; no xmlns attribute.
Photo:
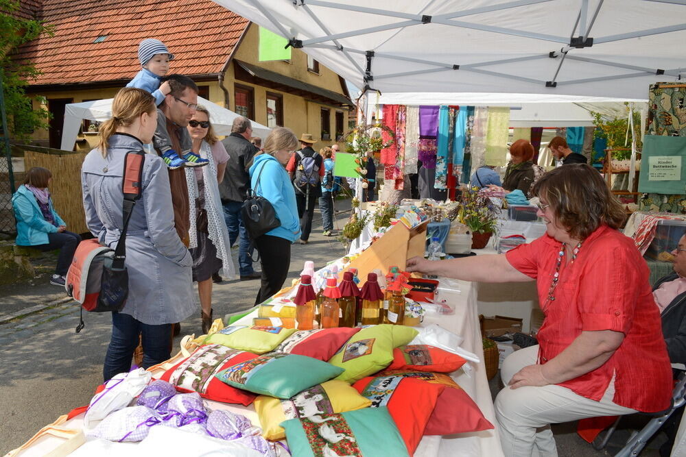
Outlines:
<svg viewBox="0 0 686 457"><path fill-rule="evenodd" d="M337 202L349 208L349 201ZM347 212L338 214L342 229ZM298 276L305 260L315 266L344 254L335 237L321 235L321 218L314 215L314 229L307 245L293 245L289 280ZM234 261L237 249L232 250ZM259 269L259 267L256 267ZM250 308L257 295L259 280L223 282L214 285L214 315ZM17 312L59 297L58 288L40 287L45 301L36 296L35 285L3 288L0 292L0 314ZM29 295L30 299L23 296ZM181 333L200 334L198 313L181 323ZM80 334L74 329L79 320L79 307L73 301L0 324L0 455L29 439L43 425L62 414L88 404L93 391L102 383L102 361L110 338L110 315L84 313L86 328ZM176 343L180 341L177 337ZM176 350L176 349L175 349Z"/></svg>

